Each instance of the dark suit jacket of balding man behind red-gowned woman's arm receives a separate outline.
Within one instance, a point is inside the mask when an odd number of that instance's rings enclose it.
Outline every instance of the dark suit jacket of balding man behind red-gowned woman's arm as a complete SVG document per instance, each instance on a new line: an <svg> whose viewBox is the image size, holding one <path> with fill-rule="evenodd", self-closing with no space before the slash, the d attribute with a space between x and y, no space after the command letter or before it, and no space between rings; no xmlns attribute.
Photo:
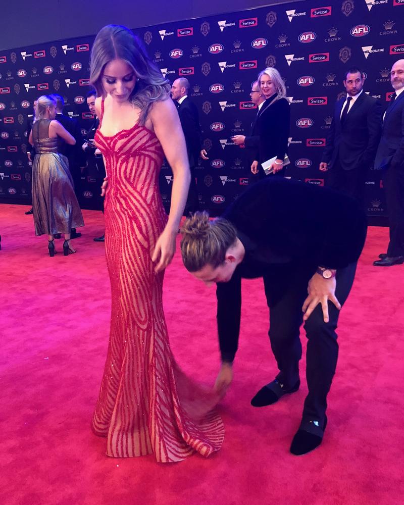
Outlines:
<svg viewBox="0 0 404 505"><path fill-rule="evenodd" d="M198 162L202 149L202 134L199 125L199 114L196 105L187 96L178 106L178 115L185 136L189 166L194 167Z"/></svg>

